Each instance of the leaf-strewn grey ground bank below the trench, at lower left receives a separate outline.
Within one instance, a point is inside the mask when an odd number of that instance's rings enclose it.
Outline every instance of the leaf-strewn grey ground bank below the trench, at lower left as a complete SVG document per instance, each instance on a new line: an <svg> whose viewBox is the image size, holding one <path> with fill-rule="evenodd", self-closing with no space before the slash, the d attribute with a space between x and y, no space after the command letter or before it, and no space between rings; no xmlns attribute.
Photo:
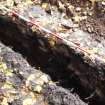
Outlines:
<svg viewBox="0 0 105 105"><path fill-rule="evenodd" d="M1 105L87 105L0 43Z"/></svg>

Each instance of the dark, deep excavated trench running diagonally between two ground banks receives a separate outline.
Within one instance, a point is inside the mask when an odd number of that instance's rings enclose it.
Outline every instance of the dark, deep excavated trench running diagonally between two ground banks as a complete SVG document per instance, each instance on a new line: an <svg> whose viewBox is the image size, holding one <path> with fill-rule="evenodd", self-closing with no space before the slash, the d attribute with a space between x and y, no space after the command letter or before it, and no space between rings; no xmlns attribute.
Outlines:
<svg viewBox="0 0 105 105"><path fill-rule="evenodd" d="M58 43L51 47L40 33L32 33L29 27L6 17L0 17L0 41L21 53L32 66L40 67L57 85L73 89L90 105L105 104L104 88L98 85L101 82L96 77L97 68L84 63L82 55L75 54L68 46Z"/></svg>

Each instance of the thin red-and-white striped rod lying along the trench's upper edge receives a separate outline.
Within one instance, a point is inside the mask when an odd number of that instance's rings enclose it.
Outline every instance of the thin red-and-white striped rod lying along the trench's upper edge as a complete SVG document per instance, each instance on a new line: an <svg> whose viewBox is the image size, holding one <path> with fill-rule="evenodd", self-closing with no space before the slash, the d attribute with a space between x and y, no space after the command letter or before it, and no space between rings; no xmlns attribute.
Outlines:
<svg viewBox="0 0 105 105"><path fill-rule="evenodd" d="M66 45L73 46L73 47L79 49L81 52L87 54L87 55L90 56L92 59L97 59L97 60L100 60L100 61L105 62L104 59L102 59L101 57L99 57L99 56L97 56L97 55L95 55L95 54L93 54L93 53L90 53L90 52L84 50L84 49L81 48L79 45L77 45L75 42L70 41L70 40L67 40L67 39L61 37L61 36L59 35L59 33L51 32L50 30L48 30L48 29L44 28L43 26L39 25L39 24L37 23L37 21L34 21L34 22L33 22L32 20L25 18L24 16L22 16L22 15L19 14L19 13L17 13L16 11L11 10L11 9L9 9L9 8L7 8L7 7L5 7L5 6L3 6L3 5L0 5L0 9L1 9L1 10L5 10L5 11L7 11L7 12L9 12L9 13L12 13L13 16L19 17L20 19L24 20L24 21L27 22L27 23L31 23L32 25L35 25L38 29L43 30L44 32L48 33L49 35L55 36L56 38L62 40Z"/></svg>

